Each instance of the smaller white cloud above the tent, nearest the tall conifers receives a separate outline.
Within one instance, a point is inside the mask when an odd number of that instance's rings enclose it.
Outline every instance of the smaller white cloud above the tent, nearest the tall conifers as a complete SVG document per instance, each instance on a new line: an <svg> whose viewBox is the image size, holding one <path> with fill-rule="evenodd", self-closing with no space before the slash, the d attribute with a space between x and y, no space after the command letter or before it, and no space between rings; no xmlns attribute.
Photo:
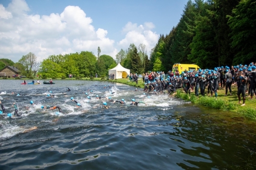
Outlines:
<svg viewBox="0 0 256 170"><path fill-rule="evenodd" d="M122 29L122 32L126 33L125 38L117 44L120 48L127 49L131 43L134 43L136 46L143 43L149 52L155 46L159 37L156 32L151 31L153 28L153 23L144 23L143 25L137 26L137 23L128 22Z"/></svg>

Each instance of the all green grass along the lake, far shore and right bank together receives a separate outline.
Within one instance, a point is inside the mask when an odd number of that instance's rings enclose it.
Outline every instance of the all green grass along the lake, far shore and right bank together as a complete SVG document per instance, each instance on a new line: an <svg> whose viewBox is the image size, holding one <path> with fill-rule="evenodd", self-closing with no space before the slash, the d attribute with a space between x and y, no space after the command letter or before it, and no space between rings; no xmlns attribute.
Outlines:
<svg viewBox="0 0 256 170"><path fill-rule="evenodd" d="M27 78L25 79L29 83L29 80ZM35 78L34 80L36 79L37 78ZM46 81L49 81L49 79L50 78L48 78ZM18 79L18 80L23 80L23 79ZM39 79L39 80L44 80L44 79ZM53 79L53 81L54 80L61 80L61 78ZM108 80L106 78L79 78L79 79L66 78L64 80L107 81L107 82L115 82L115 83L127 84L129 86L144 88L144 83L142 80L139 80L138 84L136 84L135 82L130 82L129 78L122 78L122 79L115 79L115 80ZM215 97L208 97L208 96L205 96L205 97L199 96L199 98L197 98L194 92L191 92L191 95L189 96L189 95L186 95L182 89L179 89L177 90L175 97L181 98L185 101L190 101L192 103L195 103L201 106L210 107L213 109L221 109L223 111L236 112L245 118L256 119L256 104L255 104L256 99L254 98L254 100L251 101L251 100L248 100L249 98L247 98L247 100L245 101L245 106L240 107L241 104L237 104L238 97L236 93L237 93L237 87L235 85L235 86L232 86L232 94L233 94L232 96L230 95L224 96L225 89L219 89L217 99Z"/></svg>

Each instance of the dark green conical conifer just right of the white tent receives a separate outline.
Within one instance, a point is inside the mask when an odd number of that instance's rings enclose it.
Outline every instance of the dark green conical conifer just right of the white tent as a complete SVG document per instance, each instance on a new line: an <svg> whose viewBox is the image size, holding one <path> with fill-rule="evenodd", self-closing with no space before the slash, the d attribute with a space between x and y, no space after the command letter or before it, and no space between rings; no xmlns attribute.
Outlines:
<svg viewBox="0 0 256 170"><path fill-rule="evenodd" d="M143 66L138 54L138 49L135 46L133 53L131 55L131 72L141 74L143 72Z"/></svg>

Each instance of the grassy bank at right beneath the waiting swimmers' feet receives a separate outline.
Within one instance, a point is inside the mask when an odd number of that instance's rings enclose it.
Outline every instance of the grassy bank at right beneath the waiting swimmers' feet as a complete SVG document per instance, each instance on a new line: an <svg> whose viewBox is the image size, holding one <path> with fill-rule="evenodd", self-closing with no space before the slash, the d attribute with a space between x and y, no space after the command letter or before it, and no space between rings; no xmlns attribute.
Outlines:
<svg viewBox="0 0 256 170"><path fill-rule="evenodd" d="M208 92L206 90L206 92ZM229 92L228 92L229 94ZM214 109L221 109L221 110L229 110L232 112L237 112L243 117L256 119L256 99L254 100L248 100L249 98L246 98L245 106L241 107L241 104L238 103L238 97L237 97L237 87L232 86L232 96L225 95L225 89L219 89L218 90L218 98L215 99L215 97L208 97L208 96L199 96L197 98L195 96L195 93L191 93L191 95L186 95L183 90L177 90L177 94L175 95L177 98L182 98L185 101L191 101L192 103L199 104L205 107L210 107ZM214 95L214 93L213 93ZM246 95L247 96L247 95Z"/></svg>

